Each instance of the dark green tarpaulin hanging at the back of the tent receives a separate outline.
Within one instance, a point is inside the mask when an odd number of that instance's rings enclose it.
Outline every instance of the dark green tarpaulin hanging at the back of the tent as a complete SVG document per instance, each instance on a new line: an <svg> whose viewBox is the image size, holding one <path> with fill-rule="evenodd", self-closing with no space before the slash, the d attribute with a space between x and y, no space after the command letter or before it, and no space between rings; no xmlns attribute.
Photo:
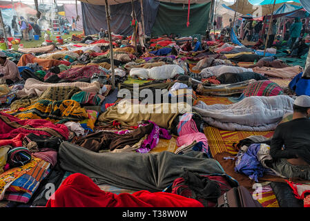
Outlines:
<svg viewBox="0 0 310 221"><path fill-rule="evenodd" d="M163 3L159 5L157 17L152 29L153 36L163 34L181 36L193 36L194 34L206 33L209 22L211 2L202 4L191 4L189 23L187 27L188 5L176 3Z"/></svg>

